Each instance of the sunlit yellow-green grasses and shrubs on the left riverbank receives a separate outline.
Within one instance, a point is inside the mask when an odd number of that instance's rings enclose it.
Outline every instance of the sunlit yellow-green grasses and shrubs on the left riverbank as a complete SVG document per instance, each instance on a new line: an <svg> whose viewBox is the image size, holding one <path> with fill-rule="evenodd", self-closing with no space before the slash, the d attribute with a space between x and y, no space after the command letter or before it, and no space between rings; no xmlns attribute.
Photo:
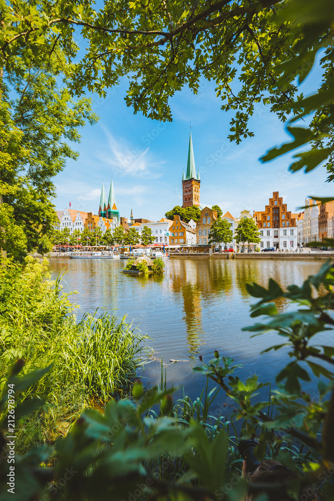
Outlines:
<svg viewBox="0 0 334 501"><path fill-rule="evenodd" d="M0 374L13 362L26 361L24 373L50 366L48 373L20 397L45 400L43 411L18 428L17 452L53 441L66 432L87 406L104 404L126 392L136 374L142 336L126 318L84 314L52 281L47 261L27 258L26 265L6 260L0 268Z"/></svg>

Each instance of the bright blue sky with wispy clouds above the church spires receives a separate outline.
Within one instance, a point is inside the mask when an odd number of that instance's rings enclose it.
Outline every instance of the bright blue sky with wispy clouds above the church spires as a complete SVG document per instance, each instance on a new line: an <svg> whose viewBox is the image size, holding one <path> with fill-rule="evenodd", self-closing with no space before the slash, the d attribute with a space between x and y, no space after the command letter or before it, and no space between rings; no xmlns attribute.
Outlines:
<svg viewBox="0 0 334 501"><path fill-rule="evenodd" d="M320 82L312 70L302 90L310 94ZM93 110L100 120L81 130L82 141L74 148L77 161L55 178L58 210L71 208L98 212L102 180L107 197L113 178L120 214L159 220L175 205L182 205L181 179L186 169L191 122L196 171L200 169L201 203L218 204L238 217L240 211L264 210L273 191L279 191L288 210L297 211L308 195L332 195L323 167L304 174L288 172L290 155L262 164L259 157L289 139L284 124L257 105L250 120L253 138L239 145L230 143L232 113L222 112L214 84L203 82L195 96L184 88L170 100L173 122L152 121L127 108L127 81L108 92L105 99L93 96Z"/></svg>

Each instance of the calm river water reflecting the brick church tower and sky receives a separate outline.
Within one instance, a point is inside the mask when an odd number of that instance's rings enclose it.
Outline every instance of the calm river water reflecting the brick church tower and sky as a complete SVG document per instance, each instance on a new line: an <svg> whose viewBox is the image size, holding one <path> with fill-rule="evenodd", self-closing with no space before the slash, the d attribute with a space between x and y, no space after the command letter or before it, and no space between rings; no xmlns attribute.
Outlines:
<svg viewBox="0 0 334 501"><path fill-rule="evenodd" d="M183 260L165 261L162 277L133 277L122 273L124 260L51 261L53 276L66 272L65 291L78 291L71 296L82 312L107 310L123 317L147 334L147 345L153 357L145 365L145 383L160 382L161 359L167 370L167 386L183 385L192 398L202 391L206 379L192 372L203 360L213 358L214 350L243 364L237 371L246 379L256 373L262 381L273 381L279 368L289 359L286 351L260 352L282 343L274 333L251 338L241 331L259 319L249 317L249 296L245 284L256 282L267 286L269 277L284 289L301 285L308 275L316 273L318 262L284 260ZM291 308L285 300L277 304L280 312ZM80 317L80 312L79 315ZM328 336L328 335L327 335ZM277 343L278 341L278 343ZM145 357L146 358L146 357ZM187 360L171 363L170 360ZM180 394L180 392L178 392Z"/></svg>

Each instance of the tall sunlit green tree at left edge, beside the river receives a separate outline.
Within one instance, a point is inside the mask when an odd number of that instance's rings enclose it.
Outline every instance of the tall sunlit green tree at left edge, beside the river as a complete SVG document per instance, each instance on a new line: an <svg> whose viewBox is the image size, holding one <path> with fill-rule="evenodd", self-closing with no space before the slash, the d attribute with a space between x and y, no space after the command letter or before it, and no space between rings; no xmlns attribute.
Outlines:
<svg viewBox="0 0 334 501"><path fill-rule="evenodd" d="M12 16L12 26L19 21L14 19L14 4L1 3L2 26L8 16ZM37 2L24 9L41 13L45 6ZM53 177L68 158L77 159L70 142L80 140L78 129L97 119L90 100L73 99L62 82L71 72L68 55L73 51L58 45L57 37L50 33L38 50L28 37L18 50L7 54L6 64L3 58L0 64L0 204L5 203L3 210L13 209L11 214L27 237L27 248L20 247L21 258L34 248L45 247L52 238L56 220Z"/></svg>

